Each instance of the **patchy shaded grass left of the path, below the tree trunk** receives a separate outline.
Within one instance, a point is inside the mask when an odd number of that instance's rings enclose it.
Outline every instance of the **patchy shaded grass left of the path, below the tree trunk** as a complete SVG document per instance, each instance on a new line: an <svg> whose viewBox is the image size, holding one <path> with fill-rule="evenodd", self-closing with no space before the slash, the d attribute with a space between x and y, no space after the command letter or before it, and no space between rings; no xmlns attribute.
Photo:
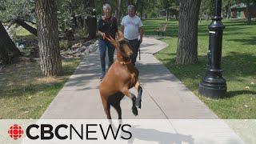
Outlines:
<svg viewBox="0 0 256 144"><path fill-rule="evenodd" d="M0 70L0 119L40 118L80 62L80 58L62 61L64 75L56 78L42 77L38 62Z"/></svg>

